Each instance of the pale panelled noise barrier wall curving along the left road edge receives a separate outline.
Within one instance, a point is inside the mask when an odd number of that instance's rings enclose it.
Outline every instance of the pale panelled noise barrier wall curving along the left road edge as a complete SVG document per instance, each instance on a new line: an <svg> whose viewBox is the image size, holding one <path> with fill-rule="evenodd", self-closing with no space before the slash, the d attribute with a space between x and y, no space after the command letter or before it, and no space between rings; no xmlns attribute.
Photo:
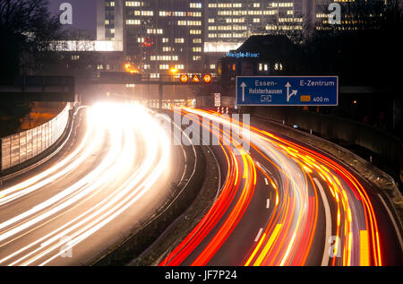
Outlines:
<svg viewBox="0 0 403 284"><path fill-rule="evenodd" d="M1 170L13 168L37 157L62 136L69 121L70 103L46 124L1 139Z"/></svg>

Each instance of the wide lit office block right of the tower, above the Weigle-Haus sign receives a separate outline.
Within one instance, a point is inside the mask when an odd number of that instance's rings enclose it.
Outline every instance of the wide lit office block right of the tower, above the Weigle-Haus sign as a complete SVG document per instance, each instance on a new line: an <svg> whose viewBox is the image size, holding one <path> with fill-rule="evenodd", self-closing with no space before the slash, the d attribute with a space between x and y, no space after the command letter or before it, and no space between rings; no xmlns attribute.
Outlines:
<svg viewBox="0 0 403 284"><path fill-rule="evenodd" d="M236 49L253 35L302 30L302 0L210 0L206 8L205 52Z"/></svg>

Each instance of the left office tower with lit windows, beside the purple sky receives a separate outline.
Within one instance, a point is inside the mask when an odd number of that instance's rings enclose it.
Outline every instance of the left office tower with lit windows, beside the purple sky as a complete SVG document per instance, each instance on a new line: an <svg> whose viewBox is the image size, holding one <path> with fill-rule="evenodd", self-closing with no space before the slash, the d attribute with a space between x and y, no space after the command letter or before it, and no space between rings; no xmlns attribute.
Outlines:
<svg viewBox="0 0 403 284"><path fill-rule="evenodd" d="M98 39L124 41L139 72L201 72L204 0L98 0Z"/></svg>

